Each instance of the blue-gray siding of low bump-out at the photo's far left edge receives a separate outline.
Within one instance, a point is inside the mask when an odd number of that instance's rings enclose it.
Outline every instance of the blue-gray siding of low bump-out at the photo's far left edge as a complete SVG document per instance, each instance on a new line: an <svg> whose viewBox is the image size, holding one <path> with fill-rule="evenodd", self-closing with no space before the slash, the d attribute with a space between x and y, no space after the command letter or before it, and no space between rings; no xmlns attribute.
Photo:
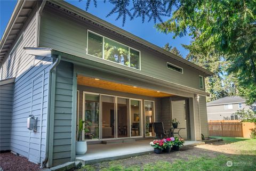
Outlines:
<svg viewBox="0 0 256 171"><path fill-rule="evenodd" d="M0 86L0 151L10 150L13 83Z"/></svg>

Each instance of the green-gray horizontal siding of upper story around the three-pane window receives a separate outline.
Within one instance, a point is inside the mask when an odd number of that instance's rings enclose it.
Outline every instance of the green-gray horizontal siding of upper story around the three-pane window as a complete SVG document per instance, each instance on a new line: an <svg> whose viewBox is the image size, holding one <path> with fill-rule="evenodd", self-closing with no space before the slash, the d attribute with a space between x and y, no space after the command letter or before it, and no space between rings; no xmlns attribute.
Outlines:
<svg viewBox="0 0 256 171"><path fill-rule="evenodd" d="M121 64L109 62L94 56L86 55L87 29L114 39L127 46L141 51L141 70L122 66ZM199 89L199 71L180 63L169 56L160 55L148 50L145 47L129 42L117 35L110 34L103 29L99 29L86 21L70 18L68 15L52 10L46 6L42 15L40 46L51 47L59 51L82 56L83 58L103 62L109 66L119 67L126 70L138 72L143 75L163 79L168 82ZM173 63L183 68L183 74L170 70L166 67L166 62Z"/></svg>

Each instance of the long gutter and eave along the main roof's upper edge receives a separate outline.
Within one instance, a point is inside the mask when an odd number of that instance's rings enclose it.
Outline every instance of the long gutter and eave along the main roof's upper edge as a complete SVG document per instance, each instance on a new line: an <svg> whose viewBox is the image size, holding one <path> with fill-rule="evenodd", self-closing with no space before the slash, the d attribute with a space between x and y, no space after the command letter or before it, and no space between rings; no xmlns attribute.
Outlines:
<svg viewBox="0 0 256 171"><path fill-rule="evenodd" d="M67 9L69 11L72 11L74 13L77 13L78 15L81 15L82 17L84 17L86 19L89 19L91 21L97 22L97 23L99 23L103 27L109 28L110 30L113 30L113 31L115 31L115 32L117 32L119 34L122 34L122 35L124 35L127 38L131 38L131 39L135 40L138 43L146 45L146 46L152 48L155 51L161 52L161 53L163 53L163 54L165 54L167 56L170 56L171 58L173 58L175 60L178 60L178 61L180 61L182 63L187 64L190 67L198 69L198 70L204 72L206 74L206 76L214 75L214 73L209 71L209 70L206 70L206 69L204 69L202 67L199 67L196 64L187 61L186 59L180 58L180 56L177 56L177 55L175 55L175 54L173 54L171 52L168 52L168 51L164 50L163 48L148 42L147 40L144 40L144 39L142 39L142 38L140 38L138 36L135 36L135 35L131 34L130 32L127 32L127 31L125 31L125 30L123 30L121 28L118 28L118 27L112 25L111 23L109 23L107 21L104 21L104 20L102 20L102 19L100 19L100 18L98 18L98 17L96 17L96 16L94 16L94 15L92 15L92 14L90 14L90 13L84 11L84 10L81 10L78 7L76 7L74 5L71 5L71 4L69 4L69 3L65 2L65 1L50 0L49 2L57 4L57 5L65 8L65 9Z"/></svg>

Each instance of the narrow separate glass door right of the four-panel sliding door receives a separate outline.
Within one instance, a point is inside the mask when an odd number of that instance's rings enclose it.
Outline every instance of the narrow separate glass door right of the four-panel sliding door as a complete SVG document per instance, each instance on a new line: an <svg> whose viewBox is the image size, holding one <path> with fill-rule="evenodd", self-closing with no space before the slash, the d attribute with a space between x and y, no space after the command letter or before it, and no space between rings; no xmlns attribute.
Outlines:
<svg viewBox="0 0 256 171"><path fill-rule="evenodd" d="M144 101L145 103L145 133L146 136L154 136L152 123L155 121L155 109L153 101Z"/></svg>

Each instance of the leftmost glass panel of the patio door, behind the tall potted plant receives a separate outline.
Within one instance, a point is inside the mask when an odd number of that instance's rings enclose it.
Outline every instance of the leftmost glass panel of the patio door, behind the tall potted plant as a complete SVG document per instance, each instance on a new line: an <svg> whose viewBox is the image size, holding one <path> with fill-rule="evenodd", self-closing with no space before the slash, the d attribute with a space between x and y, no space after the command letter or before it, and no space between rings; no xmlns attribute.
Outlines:
<svg viewBox="0 0 256 171"><path fill-rule="evenodd" d="M84 128L83 138L99 139L99 99L96 94L84 93L83 120Z"/></svg>

